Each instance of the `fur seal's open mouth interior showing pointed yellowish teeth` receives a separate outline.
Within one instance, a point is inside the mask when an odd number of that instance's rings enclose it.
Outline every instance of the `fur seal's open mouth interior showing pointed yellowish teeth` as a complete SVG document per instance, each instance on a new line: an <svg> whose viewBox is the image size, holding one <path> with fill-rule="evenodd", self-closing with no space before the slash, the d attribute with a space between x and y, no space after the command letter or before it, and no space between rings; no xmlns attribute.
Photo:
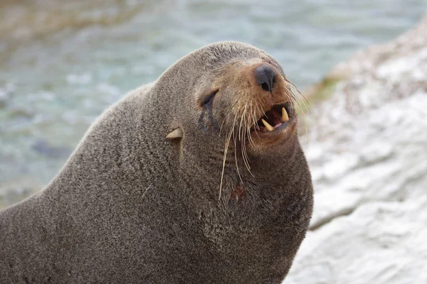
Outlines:
<svg viewBox="0 0 427 284"><path fill-rule="evenodd" d="M284 104L275 104L271 109L265 111L263 117L252 126L251 130L260 132L273 132L282 129L292 121L292 108L289 102Z"/></svg>

